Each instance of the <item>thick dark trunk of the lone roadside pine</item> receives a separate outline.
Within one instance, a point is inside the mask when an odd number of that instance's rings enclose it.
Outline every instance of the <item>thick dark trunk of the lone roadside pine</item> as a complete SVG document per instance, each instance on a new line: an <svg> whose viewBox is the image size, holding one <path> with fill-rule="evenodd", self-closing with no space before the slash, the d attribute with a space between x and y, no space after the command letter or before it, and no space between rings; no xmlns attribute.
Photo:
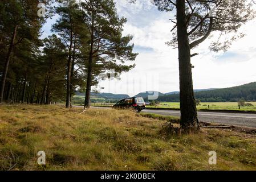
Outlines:
<svg viewBox="0 0 256 182"><path fill-rule="evenodd" d="M177 1L178 61L180 67L181 132L195 133L200 129L193 92L192 64L186 26L185 0Z"/></svg>

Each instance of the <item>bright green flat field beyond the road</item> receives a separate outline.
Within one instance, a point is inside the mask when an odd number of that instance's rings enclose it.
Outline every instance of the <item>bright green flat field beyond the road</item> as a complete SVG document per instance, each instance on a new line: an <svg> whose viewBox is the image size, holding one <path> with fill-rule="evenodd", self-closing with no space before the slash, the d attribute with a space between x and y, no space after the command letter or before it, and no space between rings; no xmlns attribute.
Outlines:
<svg viewBox="0 0 256 182"><path fill-rule="evenodd" d="M241 111L256 111L256 102L246 102L254 106L238 107L237 102L202 102L197 106L198 110L241 110ZM114 103L93 103L92 106L112 106ZM180 109L180 102L161 102L160 105L147 106L148 108L165 108L165 109Z"/></svg>

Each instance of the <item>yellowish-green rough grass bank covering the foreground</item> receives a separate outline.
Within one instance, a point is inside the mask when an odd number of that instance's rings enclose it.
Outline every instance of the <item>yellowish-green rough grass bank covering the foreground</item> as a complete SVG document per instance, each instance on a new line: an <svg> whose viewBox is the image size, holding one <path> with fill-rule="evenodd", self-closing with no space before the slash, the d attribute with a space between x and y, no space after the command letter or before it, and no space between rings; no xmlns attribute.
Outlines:
<svg viewBox="0 0 256 182"><path fill-rule="evenodd" d="M81 112L1 105L0 169L256 169L255 135L202 129L197 135L170 137L160 132L164 119L129 110ZM36 163L38 151L46 152L46 166ZM209 151L217 152L217 165L209 165Z"/></svg>

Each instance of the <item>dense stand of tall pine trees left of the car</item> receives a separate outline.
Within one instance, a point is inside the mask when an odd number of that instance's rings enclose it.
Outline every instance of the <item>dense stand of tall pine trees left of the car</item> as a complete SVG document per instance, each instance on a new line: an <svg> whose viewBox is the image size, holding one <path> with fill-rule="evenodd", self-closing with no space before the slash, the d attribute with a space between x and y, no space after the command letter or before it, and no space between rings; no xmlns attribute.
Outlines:
<svg viewBox="0 0 256 182"><path fill-rule="evenodd" d="M38 16L38 4L46 15ZM47 9L48 8L48 9ZM51 10L51 11L50 11ZM42 38L47 18L58 15L52 35ZM127 20L113 0L2 0L0 2L0 102L72 106L75 90L86 93L100 73L127 72L135 60Z"/></svg>

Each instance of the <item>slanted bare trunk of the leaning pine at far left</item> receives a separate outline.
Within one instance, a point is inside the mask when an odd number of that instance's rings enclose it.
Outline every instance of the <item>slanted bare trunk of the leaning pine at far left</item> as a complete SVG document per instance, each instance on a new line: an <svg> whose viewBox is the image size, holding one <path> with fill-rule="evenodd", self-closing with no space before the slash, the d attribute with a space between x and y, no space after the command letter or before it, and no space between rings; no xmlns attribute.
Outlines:
<svg viewBox="0 0 256 182"><path fill-rule="evenodd" d="M6 82L7 72L8 72L8 68L9 68L10 59L11 59L11 52L13 52L14 42L15 42L15 38L17 35L17 29L18 29L18 25L14 27L10 47L9 47L9 50L8 50L8 53L6 56L5 68L3 71L2 84L1 84L0 103L3 101L3 93L5 92L5 82Z"/></svg>

